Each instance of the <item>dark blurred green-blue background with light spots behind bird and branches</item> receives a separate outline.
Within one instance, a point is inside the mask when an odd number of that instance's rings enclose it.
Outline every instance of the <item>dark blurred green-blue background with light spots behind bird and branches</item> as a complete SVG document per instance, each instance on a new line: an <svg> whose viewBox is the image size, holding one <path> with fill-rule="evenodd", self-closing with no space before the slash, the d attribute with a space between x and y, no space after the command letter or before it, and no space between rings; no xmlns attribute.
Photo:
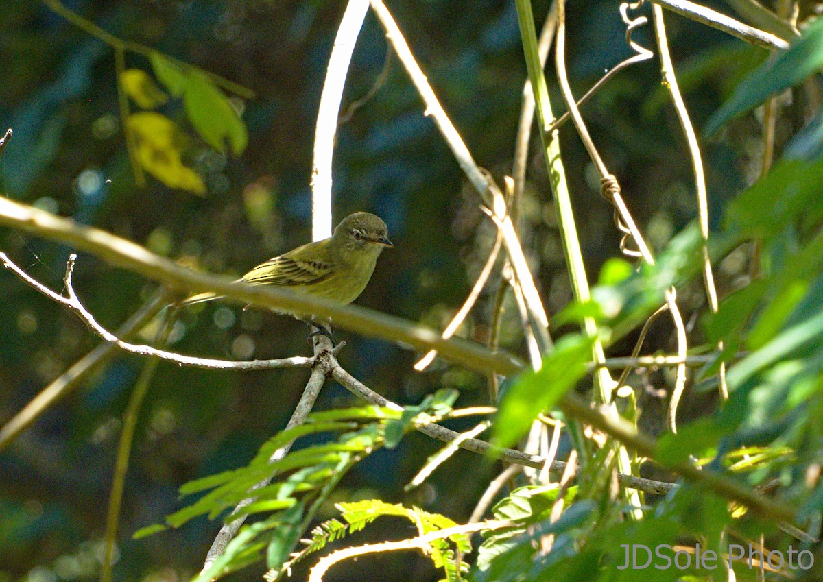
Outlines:
<svg viewBox="0 0 823 582"><path fill-rule="evenodd" d="M539 25L548 2L533 4ZM227 93L242 111L248 147L239 156L209 147L172 95L157 110L183 128L183 163L200 176L204 192L169 187L149 174L145 187L138 187L124 141L112 48L42 2L7 0L0 2L0 125L12 127L14 137L0 157L0 193L230 275L309 241L314 121L345 2L65 0L63 5L121 39L253 90L253 99ZM510 174L525 79L514 2L392 0L388 7L477 162L499 180ZM569 2L568 58L577 95L630 54L617 8L618 2L606 0ZM669 15L668 24L677 72L700 128L765 51L679 16ZM636 39L649 45L648 28ZM386 53L383 31L370 15L355 50L344 110L369 92ZM153 76L148 59L133 51L125 52L125 66ZM550 78L553 68L547 67ZM595 141L655 248L696 210L685 143L658 70L653 60L621 72L584 107ZM556 83L551 90L556 110L564 110ZM129 106L140 110L133 101ZM758 172L758 132L751 116L704 143L713 224L723 201ZM588 274L597 279L603 261L619 254L619 237L582 146L570 127L561 137ZM518 228L538 288L556 312L569 302L570 290L539 141L532 143L528 180L517 202ZM445 326L485 261L494 229L434 123L423 115L397 58L374 96L339 127L334 196L336 222L352 211L369 210L385 219L395 244L381 256L357 303ZM0 247L31 275L60 289L72 249L14 229L0 229ZM721 292L743 267L738 261L721 270ZM2 277L0 423L98 344L74 316L12 275ZM488 339L491 297L499 284L495 275L461 335ZM136 275L84 254L76 285L109 329L154 290ZM687 319L704 307L699 286L691 294L683 290L680 299ZM511 298L506 305L502 343L522 353ZM416 403L450 387L461 392L458 405L488 402L482 376L441 360L417 373L412 364L419 354L345 330L338 335L348 343L340 355L343 365L392 400ZM220 358L310 352L304 324L220 303L186 312L173 340L176 351ZM655 326L649 350L670 347L667 324ZM614 348L615 353L629 350L629 343ZM140 366L136 357L115 358L0 452L0 582L97 575L120 415ZM307 376L305 370L203 372L160 364L128 472L117 580L185 580L199 570L216 522L195 520L138 542L131 534L179 509L182 483L247 462L284 427ZM351 395L330 383L318 408L349 404L355 404ZM423 436L407 437L398 449L382 450L360 464L332 501L380 497L467 519L493 470L475 456L456 455L430 483L403 492L437 447ZM409 532L407 524L380 523L365 538ZM332 574L333 580L435 580L427 561L412 553L361 560Z"/></svg>

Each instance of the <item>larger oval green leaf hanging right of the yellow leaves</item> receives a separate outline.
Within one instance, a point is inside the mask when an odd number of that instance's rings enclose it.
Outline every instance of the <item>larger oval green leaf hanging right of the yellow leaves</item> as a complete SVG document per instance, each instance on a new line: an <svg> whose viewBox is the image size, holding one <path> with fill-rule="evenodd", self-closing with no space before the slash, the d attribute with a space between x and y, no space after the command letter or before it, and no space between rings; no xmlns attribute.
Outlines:
<svg viewBox="0 0 823 582"><path fill-rule="evenodd" d="M209 146L219 152L240 155L249 145L242 119L223 92L205 76L191 73L186 78L183 104L188 120Z"/></svg>

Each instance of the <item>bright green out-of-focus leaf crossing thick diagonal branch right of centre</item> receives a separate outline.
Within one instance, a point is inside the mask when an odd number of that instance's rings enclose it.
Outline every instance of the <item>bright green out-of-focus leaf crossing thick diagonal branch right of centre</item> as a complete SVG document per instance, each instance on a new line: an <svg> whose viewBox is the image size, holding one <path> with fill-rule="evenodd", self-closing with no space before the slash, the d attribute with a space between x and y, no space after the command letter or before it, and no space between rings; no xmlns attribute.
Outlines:
<svg viewBox="0 0 823 582"><path fill-rule="evenodd" d="M509 446L523 436L539 413L551 408L585 375L593 338L581 334L560 339L537 372L525 372L509 388L495 418L495 439Z"/></svg>

